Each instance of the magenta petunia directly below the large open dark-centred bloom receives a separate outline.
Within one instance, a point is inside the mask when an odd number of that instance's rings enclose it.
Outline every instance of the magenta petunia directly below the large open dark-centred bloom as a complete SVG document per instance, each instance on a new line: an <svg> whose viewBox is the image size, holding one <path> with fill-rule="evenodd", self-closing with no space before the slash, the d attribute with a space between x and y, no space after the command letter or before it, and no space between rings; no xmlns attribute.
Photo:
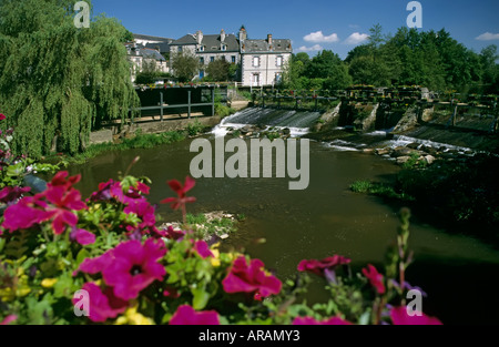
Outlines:
<svg viewBox="0 0 499 347"><path fill-rule="evenodd" d="M102 293L101 288L94 283L85 283L82 289L89 293L89 318L92 322L103 323L126 310L128 302L115 297L111 288L106 288ZM73 298L74 305L78 302L78 298Z"/></svg>

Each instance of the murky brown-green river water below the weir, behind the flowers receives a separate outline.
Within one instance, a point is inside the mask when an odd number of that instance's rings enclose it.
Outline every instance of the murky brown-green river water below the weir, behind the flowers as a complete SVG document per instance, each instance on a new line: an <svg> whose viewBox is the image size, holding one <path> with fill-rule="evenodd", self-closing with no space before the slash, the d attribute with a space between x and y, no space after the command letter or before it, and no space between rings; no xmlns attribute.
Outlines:
<svg viewBox="0 0 499 347"><path fill-rule="evenodd" d="M208 139L214 143L213 136ZM140 156L131 174L153 181L150 201L157 203L174 194L166 181L183 181L190 174L191 160L197 154L190 153L191 142L110 152L72 166L70 172L82 174L79 188L88 196L100 182L118 177L119 171L125 171ZM197 202L189 206L189 212L244 214L246 221L224 246L244 247L282 279L291 278L302 259L334 254L350 257L356 268L367 263L380 265L387 246L395 241L397 212L403 205L352 193L349 185L357 180L389 181L399 169L377 156L316 142L310 143L309 167L305 191L289 191L289 178L200 178L191 192ZM160 205L157 213L164 221L181 218L166 205ZM429 294L424 310L438 315L444 323L497 323L493 308L499 307L495 294L499 252L477 239L426 225L417 217L410 229L416 263L408 271L408 280ZM256 243L258 238L266 243ZM322 298L315 287L312 295Z"/></svg>

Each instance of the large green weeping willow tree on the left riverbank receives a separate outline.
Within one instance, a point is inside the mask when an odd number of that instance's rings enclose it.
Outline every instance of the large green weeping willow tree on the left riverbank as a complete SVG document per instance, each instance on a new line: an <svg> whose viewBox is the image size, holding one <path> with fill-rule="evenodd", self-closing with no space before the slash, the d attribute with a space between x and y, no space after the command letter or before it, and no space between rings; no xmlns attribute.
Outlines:
<svg viewBox="0 0 499 347"><path fill-rule="evenodd" d="M0 0L0 111L14 151L75 153L102 122L139 104L123 44L130 34L98 17L77 28L70 0ZM90 3L90 1L88 1Z"/></svg>

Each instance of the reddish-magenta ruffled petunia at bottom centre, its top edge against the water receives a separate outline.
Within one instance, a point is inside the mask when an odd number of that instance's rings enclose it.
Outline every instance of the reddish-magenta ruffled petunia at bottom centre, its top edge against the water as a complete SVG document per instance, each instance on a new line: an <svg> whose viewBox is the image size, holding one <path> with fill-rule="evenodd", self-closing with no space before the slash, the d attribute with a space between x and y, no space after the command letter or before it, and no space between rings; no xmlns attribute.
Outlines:
<svg viewBox="0 0 499 347"><path fill-rule="evenodd" d="M231 272L222 280L226 293L258 293L261 297L278 294L283 284L278 278L265 274L264 263L261 259L253 259L249 266L242 255L234 261Z"/></svg>

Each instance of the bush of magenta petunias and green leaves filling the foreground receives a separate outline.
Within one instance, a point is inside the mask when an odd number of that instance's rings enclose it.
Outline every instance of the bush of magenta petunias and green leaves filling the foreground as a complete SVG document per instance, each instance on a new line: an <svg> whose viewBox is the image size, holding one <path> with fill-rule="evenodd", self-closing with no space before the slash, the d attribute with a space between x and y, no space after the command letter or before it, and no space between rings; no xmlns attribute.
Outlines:
<svg viewBox="0 0 499 347"><path fill-rule="evenodd" d="M386 274L368 265L353 274L350 259L332 255L297 264L281 280L261 259L221 252L221 239L161 228L147 200L150 181L101 183L86 200L80 176L57 173L44 192L6 186L0 227L0 324L439 324L406 309L409 212L403 211L397 247ZM170 181L172 208L194 202L195 182ZM312 275L309 275L310 273ZM319 276L326 303L306 303L309 276ZM86 304L84 295L86 294ZM77 314L79 313L79 314Z"/></svg>

